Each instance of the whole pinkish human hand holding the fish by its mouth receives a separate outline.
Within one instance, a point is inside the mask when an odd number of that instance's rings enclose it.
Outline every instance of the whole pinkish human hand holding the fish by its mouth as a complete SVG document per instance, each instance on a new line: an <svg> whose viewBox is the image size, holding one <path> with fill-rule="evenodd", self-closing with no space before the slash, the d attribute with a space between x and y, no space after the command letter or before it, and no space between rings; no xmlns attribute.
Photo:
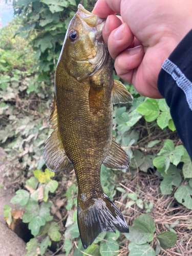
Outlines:
<svg viewBox="0 0 192 256"><path fill-rule="evenodd" d="M192 28L191 11L191 0L98 0L93 13L108 17L103 39L117 74L141 95L162 98L158 75L164 60Z"/></svg>

